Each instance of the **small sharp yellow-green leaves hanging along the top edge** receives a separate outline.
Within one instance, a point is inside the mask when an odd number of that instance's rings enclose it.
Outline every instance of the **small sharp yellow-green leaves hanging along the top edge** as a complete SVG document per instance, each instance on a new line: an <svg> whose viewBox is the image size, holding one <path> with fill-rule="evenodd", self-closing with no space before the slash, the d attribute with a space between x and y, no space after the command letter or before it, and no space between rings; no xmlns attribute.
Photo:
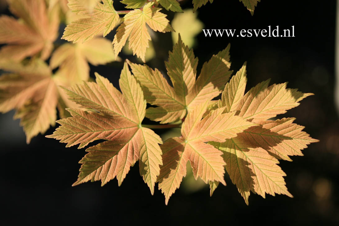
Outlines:
<svg viewBox="0 0 339 226"><path fill-rule="evenodd" d="M213 0L193 0L193 12L208 1L213 2ZM240 1L253 15L258 0ZM133 10L116 11L113 7L113 0L103 0L102 3L97 1L91 9L86 7L81 0L69 0L68 7L82 18L67 25L62 39L76 43L86 42L99 33L103 33L105 37L120 23L112 42L115 56L118 56L128 39L129 49L132 49L133 54L145 62L146 49L151 40L146 24L155 32L174 31L166 15L160 12L161 8L158 6L180 13L183 13L182 8L177 0L122 0L121 2L126 5L126 8ZM119 17L121 14L125 14L123 18Z"/></svg>

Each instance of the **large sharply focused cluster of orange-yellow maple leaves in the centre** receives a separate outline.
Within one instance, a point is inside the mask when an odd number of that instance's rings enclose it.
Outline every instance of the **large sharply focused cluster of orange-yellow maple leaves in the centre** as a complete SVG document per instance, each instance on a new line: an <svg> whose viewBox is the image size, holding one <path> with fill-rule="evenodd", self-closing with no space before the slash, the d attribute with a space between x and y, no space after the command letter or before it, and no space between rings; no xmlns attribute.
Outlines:
<svg viewBox="0 0 339 226"><path fill-rule="evenodd" d="M250 191L292 197L278 160L291 161L289 156L302 155L317 140L294 118L272 118L312 94L286 88L286 83L268 86L269 80L245 94L246 64L228 81L229 49L213 55L197 76L198 59L179 36L165 62L173 85L158 69L126 61L121 92L98 74L96 82L65 88L69 99L85 109L67 109L72 117L57 121L59 128L47 137L79 148L105 140L86 149L74 185L98 180L104 185L115 177L120 185L139 160L151 193L158 182L167 204L189 161L195 178L210 184L211 195L219 183L226 185L227 172L246 204ZM156 107L146 108L146 103ZM159 127L180 126L181 136L163 142L152 126L142 124L145 117L160 122Z"/></svg>

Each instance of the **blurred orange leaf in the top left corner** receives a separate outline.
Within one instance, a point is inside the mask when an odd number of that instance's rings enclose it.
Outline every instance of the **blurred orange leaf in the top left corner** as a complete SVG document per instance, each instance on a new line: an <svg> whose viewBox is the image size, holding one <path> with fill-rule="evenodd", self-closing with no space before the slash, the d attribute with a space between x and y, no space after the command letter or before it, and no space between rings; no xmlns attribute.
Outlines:
<svg viewBox="0 0 339 226"><path fill-rule="evenodd" d="M40 54L47 59L57 38L59 15L46 9L44 0L11 0L9 10L17 17L0 16L0 60L21 61Z"/></svg>

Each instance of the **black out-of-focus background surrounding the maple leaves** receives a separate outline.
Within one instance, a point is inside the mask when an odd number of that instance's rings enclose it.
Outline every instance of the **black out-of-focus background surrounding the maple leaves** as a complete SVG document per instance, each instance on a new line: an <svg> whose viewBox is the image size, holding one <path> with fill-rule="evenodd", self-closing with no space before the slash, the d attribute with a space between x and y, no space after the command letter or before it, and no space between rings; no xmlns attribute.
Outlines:
<svg viewBox="0 0 339 226"><path fill-rule="evenodd" d="M184 1L182 6L192 7L191 1ZM2 13L9 14L7 9ZM12 120L14 112L11 111L0 115L2 225L22 222L46 225L339 224L339 123L334 105L335 1L262 0L251 16L238 0L216 0L201 7L198 13L206 29L295 26L296 37L283 38L206 38L200 33L194 48L200 70L212 54L231 43L231 69L236 71L247 61L247 90L272 78L271 84L288 81L289 88L315 94L282 116L297 118L296 123L320 140L303 150L304 156L291 157L293 162L280 161L294 198L267 195L263 199L252 193L250 205L246 206L226 176L227 186L219 186L212 197L208 186L196 192L179 188L165 206L159 190L151 196L137 165L131 168L120 187L116 179L104 187L100 187L100 182L72 187L80 168L78 161L85 150L65 148L65 144L43 135L26 145L19 121ZM108 38L113 36L114 33ZM172 45L167 40L169 36L160 37L164 46ZM159 56L149 65L163 68L161 61ZM92 67L91 76L98 71L116 84L121 68L121 63Z"/></svg>

